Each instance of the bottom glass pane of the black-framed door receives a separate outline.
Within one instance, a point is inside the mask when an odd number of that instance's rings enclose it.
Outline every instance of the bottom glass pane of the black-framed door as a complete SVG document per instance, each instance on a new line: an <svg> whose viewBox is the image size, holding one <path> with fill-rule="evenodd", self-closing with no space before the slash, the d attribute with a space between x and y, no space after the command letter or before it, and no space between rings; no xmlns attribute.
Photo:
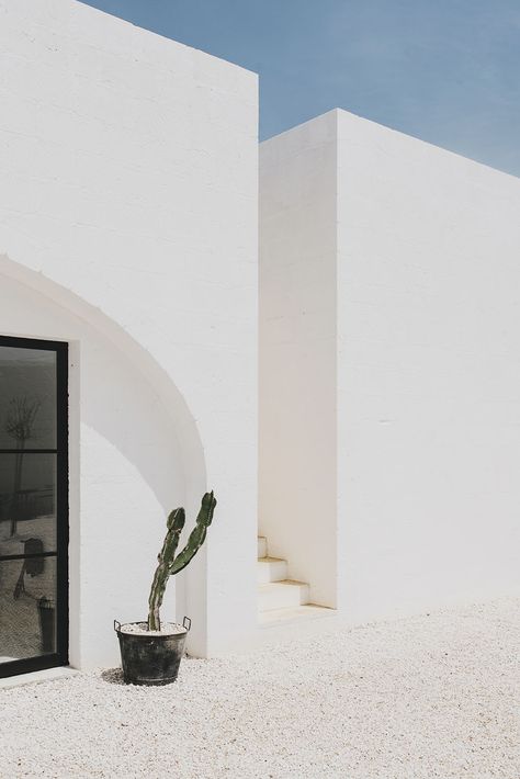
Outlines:
<svg viewBox="0 0 520 779"><path fill-rule="evenodd" d="M56 651L56 557L0 561L0 664Z"/></svg>

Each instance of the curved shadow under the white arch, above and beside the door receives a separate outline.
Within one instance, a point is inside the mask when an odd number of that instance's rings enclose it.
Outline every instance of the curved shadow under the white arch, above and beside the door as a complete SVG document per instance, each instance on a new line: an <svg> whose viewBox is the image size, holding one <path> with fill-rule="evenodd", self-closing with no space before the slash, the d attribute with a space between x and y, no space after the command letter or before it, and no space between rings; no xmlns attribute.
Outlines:
<svg viewBox="0 0 520 779"><path fill-rule="evenodd" d="M205 487L202 443L168 374L123 328L74 293L5 256L0 272L7 276L0 331L79 343L71 358L76 351L80 361L81 425L135 466L165 511L173 504L196 506Z"/></svg>

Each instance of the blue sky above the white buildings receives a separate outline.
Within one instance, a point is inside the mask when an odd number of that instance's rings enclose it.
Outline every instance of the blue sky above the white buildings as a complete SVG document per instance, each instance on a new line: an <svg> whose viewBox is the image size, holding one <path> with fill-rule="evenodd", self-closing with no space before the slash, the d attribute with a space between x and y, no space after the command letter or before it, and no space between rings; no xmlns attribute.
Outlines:
<svg viewBox="0 0 520 779"><path fill-rule="evenodd" d="M89 0L260 74L260 137L342 108L520 176L520 0Z"/></svg>

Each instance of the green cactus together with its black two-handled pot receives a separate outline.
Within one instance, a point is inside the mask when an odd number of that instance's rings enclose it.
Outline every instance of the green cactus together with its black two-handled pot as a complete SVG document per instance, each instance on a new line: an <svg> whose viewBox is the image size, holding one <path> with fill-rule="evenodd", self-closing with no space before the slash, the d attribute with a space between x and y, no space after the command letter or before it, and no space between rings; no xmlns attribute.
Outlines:
<svg viewBox="0 0 520 779"><path fill-rule="evenodd" d="M169 515L167 533L157 557L158 565L148 598L148 619L126 624L114 620L126 684L169 685L177 679L191 620L184 617L182 625L161 622L159 610L170 576L185 568L204 543L215 506L213 492L206 493L202 498L195 527L179 554L177 547L185 522L184 509L176 508Z"/></svg>

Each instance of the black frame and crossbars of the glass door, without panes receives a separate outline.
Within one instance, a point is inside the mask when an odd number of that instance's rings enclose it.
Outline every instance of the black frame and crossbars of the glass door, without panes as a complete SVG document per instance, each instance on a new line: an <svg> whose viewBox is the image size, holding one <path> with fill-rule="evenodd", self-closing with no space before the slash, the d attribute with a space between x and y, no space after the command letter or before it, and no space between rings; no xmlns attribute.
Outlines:
<svg viewBox="0 0 520 779"><path fill-rule="evenodd" d="M56 558L56 652L0 663L0 678L7 678L69 664L69 345L67 341L0 335L0 347L41 349L54 351L56 354L56 448L24 450L27 454L37 452L56 455L56 553L0 555L0 562L29 557ZM15 449L0 449L0 454L12 452L15 452Z"/></svg>

